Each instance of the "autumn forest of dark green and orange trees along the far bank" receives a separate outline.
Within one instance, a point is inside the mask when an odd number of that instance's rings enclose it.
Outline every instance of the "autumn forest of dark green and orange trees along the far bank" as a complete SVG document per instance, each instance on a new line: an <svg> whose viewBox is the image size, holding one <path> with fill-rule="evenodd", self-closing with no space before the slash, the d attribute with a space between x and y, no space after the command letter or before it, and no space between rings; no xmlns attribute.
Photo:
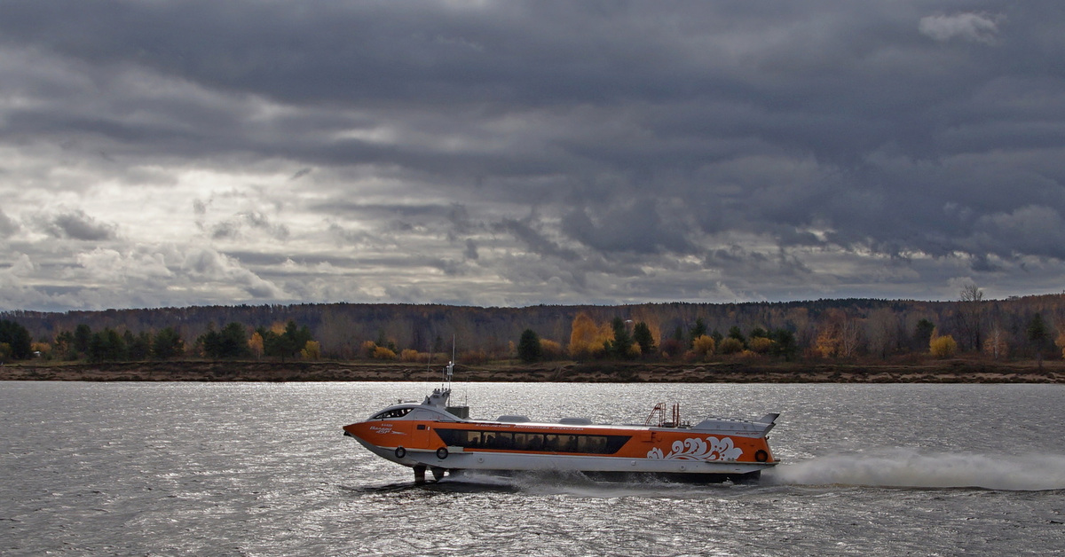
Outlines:
<svg viewBox="0 0 1065 557"><path fill-rule="evenodd" d="M1059 330L1058 327L1062 329ZM0 361L1061 359L1065 294L481 308L307 304L0 313Z"/></svg>

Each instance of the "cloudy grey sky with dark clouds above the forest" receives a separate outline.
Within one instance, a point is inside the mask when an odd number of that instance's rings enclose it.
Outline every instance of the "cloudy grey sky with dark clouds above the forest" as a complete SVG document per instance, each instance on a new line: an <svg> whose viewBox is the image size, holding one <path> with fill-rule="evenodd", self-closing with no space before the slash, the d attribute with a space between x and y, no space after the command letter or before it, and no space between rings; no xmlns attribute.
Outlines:
<svg viewBox="0 0 1065 557"><path fill-rule="evenodd" d="M0 310L1065 290L1061 0L0 2Z"/></svg>

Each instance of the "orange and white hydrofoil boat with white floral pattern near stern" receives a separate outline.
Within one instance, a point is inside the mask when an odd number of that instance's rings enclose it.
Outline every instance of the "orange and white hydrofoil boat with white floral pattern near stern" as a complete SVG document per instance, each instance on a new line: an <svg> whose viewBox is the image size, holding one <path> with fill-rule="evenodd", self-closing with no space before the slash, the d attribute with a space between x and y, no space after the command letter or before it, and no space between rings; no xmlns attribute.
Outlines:
<svg viewBox="0 0 1065 557"><path fill-rule="evenodd" d="M694 426L657 405L643 425L593 424L584 417L532 422L524 415L470 420L449 406L454 363L445 383L419 403L399 403L344 426L375 455L414 469L414 479L485 471L579 472L595 479L653 475L687 481L757 479L777 464L766 435L779 414L757 420L708 417Z"/></svg>

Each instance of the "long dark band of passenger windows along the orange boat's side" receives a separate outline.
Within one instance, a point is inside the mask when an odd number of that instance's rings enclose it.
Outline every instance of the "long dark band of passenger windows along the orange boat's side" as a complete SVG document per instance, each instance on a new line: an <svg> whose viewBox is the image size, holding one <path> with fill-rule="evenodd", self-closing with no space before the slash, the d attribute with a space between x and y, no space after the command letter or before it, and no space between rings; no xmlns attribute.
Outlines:
<svg viewBox="0 0 1065 557"><path fill-rule="evenodd" d="M612 455L632 439L629 436L571 436L477 429L437 428L436 431L448 446L584 455Z"/></svg>

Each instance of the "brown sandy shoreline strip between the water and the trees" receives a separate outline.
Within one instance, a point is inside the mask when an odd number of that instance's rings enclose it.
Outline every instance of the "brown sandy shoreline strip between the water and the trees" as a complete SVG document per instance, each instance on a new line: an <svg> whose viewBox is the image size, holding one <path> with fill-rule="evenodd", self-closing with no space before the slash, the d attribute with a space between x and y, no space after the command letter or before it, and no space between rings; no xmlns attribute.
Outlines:
<svg viewBox="0 0 1065 557"><path fill-rule="evenodd" d="M437 381L439 366L392 362L166 361L17 363L0 381ZM1065 383L1065 362L544 362L456 365L458 382Z"/></svg>

